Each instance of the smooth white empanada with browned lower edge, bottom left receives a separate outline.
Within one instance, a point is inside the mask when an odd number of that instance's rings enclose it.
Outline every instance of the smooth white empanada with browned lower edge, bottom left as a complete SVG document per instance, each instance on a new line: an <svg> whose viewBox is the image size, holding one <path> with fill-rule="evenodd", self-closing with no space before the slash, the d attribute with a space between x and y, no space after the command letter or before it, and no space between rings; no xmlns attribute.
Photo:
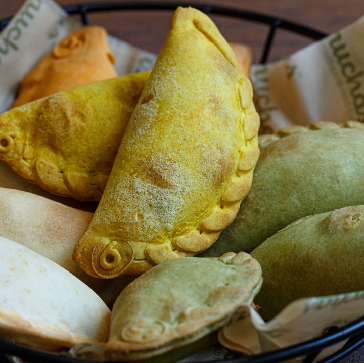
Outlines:
<svg viewBox="0 0 364 363"><path fill-rule="evenodd" d="M47 350L104 342L111 311L55 262L0 237L0 337Z"/></svg>

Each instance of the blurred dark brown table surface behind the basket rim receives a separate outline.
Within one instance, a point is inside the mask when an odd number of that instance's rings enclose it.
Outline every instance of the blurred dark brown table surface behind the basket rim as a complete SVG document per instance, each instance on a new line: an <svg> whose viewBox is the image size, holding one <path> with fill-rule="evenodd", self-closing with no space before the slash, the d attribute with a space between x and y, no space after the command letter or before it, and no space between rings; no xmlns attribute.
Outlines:
<svg viewBox="0 0 364 363"><path fill-rule="evenodd" d="M112 1L112 0L111 0ZM60 5L109 3L105 0L57 0ZM140 2L136 0L135 3ZM188 2L188 0L186 1ZM0 19L14 14L24 0L0 0ZM167 1L166 3L176 3ZM189 4L211 4L268 14L285 20L332 33L351 24L364 15L362 0L192 0ZM135 46L157 53L169 29L170 11L106 12L89 16L90 23L103 25L110 34ZM249 44L254 62L260 61L262 46L269 31L265 25L242 22L220 15L211 15L222 35L228 41ZM270 61L279 60L311 42L308 38L285 30L278 31Z"/></svg>

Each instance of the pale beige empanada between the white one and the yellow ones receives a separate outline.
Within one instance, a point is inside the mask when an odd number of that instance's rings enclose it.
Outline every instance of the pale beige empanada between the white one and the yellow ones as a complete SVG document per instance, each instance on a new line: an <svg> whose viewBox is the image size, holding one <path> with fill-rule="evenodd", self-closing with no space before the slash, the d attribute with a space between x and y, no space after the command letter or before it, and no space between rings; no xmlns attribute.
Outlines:
<svg viewBox="0 0 364 363"><path fill-rule="evenodd" d="M32 193L0 187L0 236L56 262L92 288L111 307L130 276L97 279L72 260L78 240L93 213L65 206Z"/></svg>

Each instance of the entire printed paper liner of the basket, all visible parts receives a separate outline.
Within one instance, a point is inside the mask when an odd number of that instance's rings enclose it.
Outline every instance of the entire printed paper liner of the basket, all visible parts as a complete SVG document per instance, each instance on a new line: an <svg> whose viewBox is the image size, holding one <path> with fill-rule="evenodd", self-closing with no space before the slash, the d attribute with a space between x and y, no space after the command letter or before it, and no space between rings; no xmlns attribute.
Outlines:
<svg viewBox="0 0 364 363"><path fill-rule="evenodd" d="M77 18L78 19L78 18ZM28 0L0 33L0 112L12 104L30 69L62 38L83 25L52 0ZM364 121L364 17L282 61L253 65L251 79L262 132L326 119ZM244 41L244 39L242 39ZM156 55L109 35L118 75L151 69ZM264 322L242 306L219 332L219 343L181 362L221 361L234 352L259 354L320 337L364 316L364 292L301 299ZM340 342L316 360L339 349ZM68 355L102 360L103 347L80 345ZM303 358L302 358L303 359ZM294 360L297 362L297 358Z"/></svg>

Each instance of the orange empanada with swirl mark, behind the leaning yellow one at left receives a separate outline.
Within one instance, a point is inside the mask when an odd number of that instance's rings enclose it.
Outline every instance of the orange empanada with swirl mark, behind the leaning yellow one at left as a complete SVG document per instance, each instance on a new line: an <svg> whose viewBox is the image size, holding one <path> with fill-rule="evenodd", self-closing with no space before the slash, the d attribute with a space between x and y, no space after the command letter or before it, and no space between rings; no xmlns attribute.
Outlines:
<svg viewBox="0 0 364 363"><path fill-rule="evenodd" d="M82 84L117 77L114 63L103 27L93 25L74 31L26 75L12 107Z"/></svg>

